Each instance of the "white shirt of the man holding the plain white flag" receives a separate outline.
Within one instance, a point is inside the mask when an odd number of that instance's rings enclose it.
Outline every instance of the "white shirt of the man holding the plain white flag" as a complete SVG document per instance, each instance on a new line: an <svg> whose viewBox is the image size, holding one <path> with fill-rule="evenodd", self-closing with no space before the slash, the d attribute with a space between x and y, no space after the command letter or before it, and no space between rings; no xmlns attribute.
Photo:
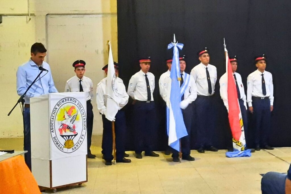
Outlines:
<svg viewBox="0 0 291 194"><path fill-rule="evenodd" d="M97 84L97 88L96 88L96 104L97 104L98 111L102 115L105 114L106 103L107 103L107 95L105 95L106 80L107 80L107 77L103 78ZM120 79L119 77L116 77L116 80L117 80L117 91L118 91L118 94L120 95L120 102L118 103L119 104L118 110L120 110L127 104L129 96L126 93L125 86L123 84L122 79Z"/></svg>

